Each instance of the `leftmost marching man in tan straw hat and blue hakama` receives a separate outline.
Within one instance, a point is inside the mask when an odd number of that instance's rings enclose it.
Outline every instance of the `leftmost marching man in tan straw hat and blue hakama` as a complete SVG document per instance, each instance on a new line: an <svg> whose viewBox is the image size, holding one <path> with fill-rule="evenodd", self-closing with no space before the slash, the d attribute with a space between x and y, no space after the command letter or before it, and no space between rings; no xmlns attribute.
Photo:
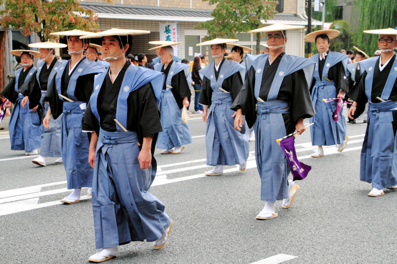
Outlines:
<svg viewBox="0 0 397 264"><path fill-rule="evenodd" d="M40 53L30 50L13 50L10 53L20 56L23 66L15 71L14 78L1 91L1 94L8 99L9 106L11 103L14 104L8 125L11 150L24 150L25 155L36 155L41 145L41 107L37 102L34 106L30 104L28 101L30 94L23 96L19 89L34 75L36 71L36 67L33 66L34 57L39 57Z"/></svg>

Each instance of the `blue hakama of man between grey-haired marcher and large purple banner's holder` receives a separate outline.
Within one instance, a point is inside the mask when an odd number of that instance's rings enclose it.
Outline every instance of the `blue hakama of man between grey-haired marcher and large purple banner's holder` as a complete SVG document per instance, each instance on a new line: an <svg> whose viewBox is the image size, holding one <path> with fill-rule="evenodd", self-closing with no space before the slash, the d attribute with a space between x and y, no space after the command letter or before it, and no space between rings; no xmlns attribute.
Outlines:
<svg viewBox="0 0 397 264"><path fill-rule="evenodd" d="M207 165L243 164L250 152L245 119L241 131L234 129L230 94L213 93L211 101L205 133Z"/></svg>

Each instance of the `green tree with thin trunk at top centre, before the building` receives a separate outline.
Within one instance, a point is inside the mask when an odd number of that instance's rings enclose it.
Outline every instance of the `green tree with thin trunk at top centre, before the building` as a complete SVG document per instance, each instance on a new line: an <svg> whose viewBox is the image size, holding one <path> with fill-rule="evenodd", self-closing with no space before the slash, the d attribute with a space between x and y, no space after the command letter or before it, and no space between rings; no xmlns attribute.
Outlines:
<svg viewBox="0 0 397 264"><path fill-rule="evenodd" d="M199 23L196 28L205 28L208 38L220 36L236 38L236 33L244 33L260 28L261 20L268 20L277 14L277 1L273 0L203 0L217 4L212 11L214 19ZM256 35L257 51L260 51L261 33Z"/></svg>

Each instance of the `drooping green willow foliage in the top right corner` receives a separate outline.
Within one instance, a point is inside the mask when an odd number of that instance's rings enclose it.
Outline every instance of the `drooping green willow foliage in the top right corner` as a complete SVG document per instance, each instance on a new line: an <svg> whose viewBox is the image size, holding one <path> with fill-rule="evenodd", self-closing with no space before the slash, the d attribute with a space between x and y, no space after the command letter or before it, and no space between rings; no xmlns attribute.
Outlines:
<svg viewBox="0 0 397 264"><path fill-rule="evenodd" d="M397 26L396 0L355 0L355 9L358 19L354 34L354 43L373 54L378 48L378 35L363 33L364 30L395 28Z"/></svg>

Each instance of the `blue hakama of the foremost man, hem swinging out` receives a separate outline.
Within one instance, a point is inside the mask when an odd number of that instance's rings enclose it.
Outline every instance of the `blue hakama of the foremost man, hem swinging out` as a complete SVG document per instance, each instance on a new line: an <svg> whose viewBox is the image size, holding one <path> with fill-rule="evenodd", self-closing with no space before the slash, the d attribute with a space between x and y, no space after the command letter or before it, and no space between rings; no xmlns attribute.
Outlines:
<svg viewBox="0 0 397 264"><path fill-rule="evenodd" d="M164 204L149 192L156 162L140 168L137 141L132 131L99 133L92 184L97 249L156 241L171 223Z"/></svg>

